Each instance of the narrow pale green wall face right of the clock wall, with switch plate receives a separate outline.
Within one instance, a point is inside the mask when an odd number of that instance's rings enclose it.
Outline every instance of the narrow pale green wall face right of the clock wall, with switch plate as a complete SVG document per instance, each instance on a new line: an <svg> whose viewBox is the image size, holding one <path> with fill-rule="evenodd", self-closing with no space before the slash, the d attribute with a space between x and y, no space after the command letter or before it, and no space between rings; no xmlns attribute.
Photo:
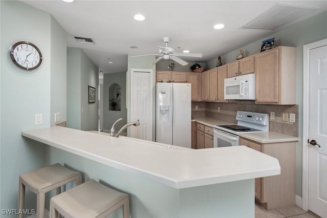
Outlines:
<svg viewBox="0 0 327 218"><path fill-rule="evenodd" d="M66 121L67 33L51 16L51 116L50 125ZM60 87L60 88L59 88ZM59 88L59 89L58 89ZM55 122L55 113L60 121Z"/></svg>

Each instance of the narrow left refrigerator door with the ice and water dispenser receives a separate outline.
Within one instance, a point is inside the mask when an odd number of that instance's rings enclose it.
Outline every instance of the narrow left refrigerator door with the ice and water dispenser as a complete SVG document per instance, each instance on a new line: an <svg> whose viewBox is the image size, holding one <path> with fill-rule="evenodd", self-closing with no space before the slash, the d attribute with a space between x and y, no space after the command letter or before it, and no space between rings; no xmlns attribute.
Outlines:
<svg viewBox="0 0 327 218"><path fill-rule="evenodd" d="M156 142L173 144L172 83L156 83Z"/></svg>

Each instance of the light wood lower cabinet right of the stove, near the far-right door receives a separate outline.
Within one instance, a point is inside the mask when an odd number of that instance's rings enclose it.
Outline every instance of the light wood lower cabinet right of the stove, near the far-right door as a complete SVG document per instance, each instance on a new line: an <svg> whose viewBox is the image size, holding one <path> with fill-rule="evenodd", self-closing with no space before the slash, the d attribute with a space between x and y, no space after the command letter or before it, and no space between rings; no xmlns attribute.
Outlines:
<svg viewBox="0 0 327 218"><path fill-rule="evenodd" d="M281 175L255 179L255 199L267 210L295 205L296 142L261 144L240 138L246 145L278 159Z"/></svg>

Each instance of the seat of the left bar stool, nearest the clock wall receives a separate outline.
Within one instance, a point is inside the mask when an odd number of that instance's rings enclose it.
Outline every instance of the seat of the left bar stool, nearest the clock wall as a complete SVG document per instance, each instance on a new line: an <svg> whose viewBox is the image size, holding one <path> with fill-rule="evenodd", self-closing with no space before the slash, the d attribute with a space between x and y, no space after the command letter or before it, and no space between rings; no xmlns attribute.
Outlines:
<svg viewBox="0 0 327 218"><path fill-rule="evenodd" d="M32 192L48 192L61 185L67 184L66 180L74 181L74 177L80 176L80 172L76 172L59 163L51 166L43 167L31 172L24 173L19 176L20 182L28 187ZM63 184L59 184L63 183ZM55 187L53 187L55 186Z"/></svg>

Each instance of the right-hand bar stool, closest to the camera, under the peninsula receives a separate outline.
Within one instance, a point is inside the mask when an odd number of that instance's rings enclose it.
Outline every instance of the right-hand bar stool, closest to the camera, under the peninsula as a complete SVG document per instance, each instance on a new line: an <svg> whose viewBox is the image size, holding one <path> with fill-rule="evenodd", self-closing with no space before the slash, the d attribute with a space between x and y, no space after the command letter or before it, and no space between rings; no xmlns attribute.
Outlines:
<svg viewBox="0 0 327 218"><path fill-rule="evenodd" d="M123 217L129 218L127 194L89 180L51 198L50 218L56 218L58 213L65 218L106 217L121 206Z"/></svg>

